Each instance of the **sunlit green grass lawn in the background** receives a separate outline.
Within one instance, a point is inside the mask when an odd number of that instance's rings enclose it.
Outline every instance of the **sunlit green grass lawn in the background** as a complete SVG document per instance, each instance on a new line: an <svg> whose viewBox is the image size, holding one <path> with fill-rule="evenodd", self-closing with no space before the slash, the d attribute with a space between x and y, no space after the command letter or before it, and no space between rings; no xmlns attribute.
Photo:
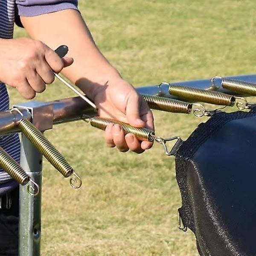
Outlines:
<svg viewBox="0 0 256 256"><path fill-rule="evenodd" d="M80 1L99 48L135 86L255 73L255 9L251 0ZM24 101L9 91L12 103ZM68 96L73 93L57 83L36 99ZM157 111L154 117L157 133L167 137L186 138L202 120ZM46 135L84 184L71 189L44 161L42 255L198 255L192 233L177 229L174 159L160 145L122 154L84 122Z"/></svg>

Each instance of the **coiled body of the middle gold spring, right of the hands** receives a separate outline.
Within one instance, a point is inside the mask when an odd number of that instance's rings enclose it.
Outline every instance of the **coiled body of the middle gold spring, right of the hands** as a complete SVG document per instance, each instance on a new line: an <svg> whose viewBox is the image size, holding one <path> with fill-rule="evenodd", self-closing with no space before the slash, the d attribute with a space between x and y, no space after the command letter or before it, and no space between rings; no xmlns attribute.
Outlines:
<svg viewBox="0 0 256 256"><path fill-rule="evenodd" d="M236 98L234 96L225 93L180 85L170 85L169 93L183 99L206 102L215 105L234 106L236 103Z"/></svg>

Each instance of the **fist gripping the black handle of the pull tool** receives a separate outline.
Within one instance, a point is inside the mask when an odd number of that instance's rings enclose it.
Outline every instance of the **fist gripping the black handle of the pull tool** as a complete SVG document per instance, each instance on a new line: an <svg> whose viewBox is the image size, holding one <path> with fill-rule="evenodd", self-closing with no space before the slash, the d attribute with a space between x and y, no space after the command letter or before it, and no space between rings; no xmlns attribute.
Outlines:
<svg viewBox="0 0 256 256"><path fill-rule="evenodd" d="M41 41L28 38L0 39L0 81L15 87L25 99L33 99L54 81L54 73L73 63L60 58Z"/></svg>

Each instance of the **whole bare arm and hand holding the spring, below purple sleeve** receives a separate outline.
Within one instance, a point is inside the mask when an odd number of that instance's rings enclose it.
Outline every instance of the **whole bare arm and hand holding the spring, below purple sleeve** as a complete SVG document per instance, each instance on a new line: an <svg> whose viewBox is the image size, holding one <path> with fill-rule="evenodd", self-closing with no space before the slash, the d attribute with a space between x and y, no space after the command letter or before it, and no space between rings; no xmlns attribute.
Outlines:
<svg viewBox="0 0 256 256"><path fill-rule="evenodd" d="M98 106L99 115L153 129L153 117L145 101L101 54L79 12L68 9L35 17L21 17L32 38L52 49L61 44L69 47L74 63L63 74L81 88ZM142 152L151 143L140 142L134 135L124 136L119 125L108 126L105 137L120 151Z"/></svg>

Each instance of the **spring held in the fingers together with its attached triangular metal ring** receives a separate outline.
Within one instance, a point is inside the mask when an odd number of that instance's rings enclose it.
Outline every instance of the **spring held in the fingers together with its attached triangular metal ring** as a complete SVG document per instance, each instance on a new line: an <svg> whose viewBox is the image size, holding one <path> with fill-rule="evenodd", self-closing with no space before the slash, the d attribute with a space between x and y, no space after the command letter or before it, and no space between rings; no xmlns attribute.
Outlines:
<svg viewBox="0 0 256 256"><path fill-rule="evenodd" d="M157 143L162 144L163 148L164 148L164 151L165 151L165 154L168 155L168 156L172 155L173 151L168 150L166 143L169 142L169 141L177 140L177 142L175 143L175 145L176 145L177 143L182 142L180 137L176 136L176 137L163 139L160 136L156 136L154 134L154 131L152 131L148 128L134 127L132 125L129 125L128 123L121 122L121 121L114 120L114 119L110 119L110 118L102 118L102 117L99 117L99 116L90 117L90 116L83 115L83 116L81 116L81 119L84 120L85 122L89 122L91 126L99 128L103 131L105 131L106 127L111 123L112 124L118 124L118 125L120 125L122 130L125 132L125 135L131 133L131 134L134 134L135 137L138 140L150 141L150 142L156 141Z"/></svg>

